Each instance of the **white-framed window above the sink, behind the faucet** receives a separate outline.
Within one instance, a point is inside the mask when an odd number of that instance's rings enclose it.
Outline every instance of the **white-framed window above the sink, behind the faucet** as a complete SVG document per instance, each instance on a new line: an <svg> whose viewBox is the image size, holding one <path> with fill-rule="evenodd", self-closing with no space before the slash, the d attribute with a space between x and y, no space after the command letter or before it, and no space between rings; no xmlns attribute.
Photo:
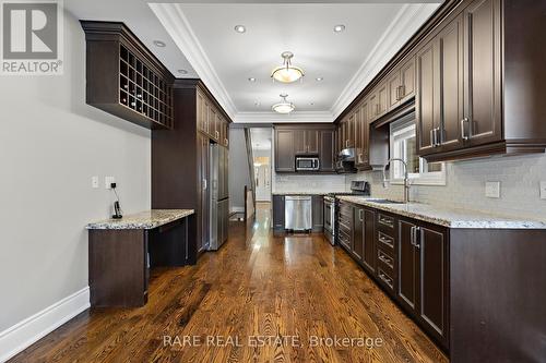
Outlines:
<svg viewBox="0 0 546 363"><path fill-rule="evenodd" d="M412 184L446 185L444 162L427 162L417 155L417 138L415 135L415 117L404 118L391 124L391 157L406 161ZM404 166L402 162L391 164L391 180L393 184L404 182Z"/></svg>

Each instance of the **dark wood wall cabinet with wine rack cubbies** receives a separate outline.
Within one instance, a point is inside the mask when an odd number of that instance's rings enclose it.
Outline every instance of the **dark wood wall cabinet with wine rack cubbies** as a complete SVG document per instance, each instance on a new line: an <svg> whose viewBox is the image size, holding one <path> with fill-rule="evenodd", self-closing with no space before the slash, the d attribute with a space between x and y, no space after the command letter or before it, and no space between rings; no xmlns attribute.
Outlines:
<svg viewBox="0 0 546 363"><path fill-rule="evenodd" d="M174 76L123 23L81 21L86 102L147 129L173 129Z"/></svg>

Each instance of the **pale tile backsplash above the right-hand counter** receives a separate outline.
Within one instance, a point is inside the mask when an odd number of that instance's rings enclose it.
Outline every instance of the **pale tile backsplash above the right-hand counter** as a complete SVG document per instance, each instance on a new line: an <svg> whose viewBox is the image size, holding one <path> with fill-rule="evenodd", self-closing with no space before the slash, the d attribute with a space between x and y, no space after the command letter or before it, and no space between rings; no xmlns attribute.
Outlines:
<svg viewBox="0 0 546 363"><path fill-rule="evenodd" d="M381 172L363 172L347 178L367 180L378 197L403 197L401 185L383 189ZM485 196L485 183L500 181L500 198ZM546 181L546 155L491 157L447 164L447 185L412 185L413 201L448 207L489 211L545 220L546 201L539 198L539 182Z"/></svg>

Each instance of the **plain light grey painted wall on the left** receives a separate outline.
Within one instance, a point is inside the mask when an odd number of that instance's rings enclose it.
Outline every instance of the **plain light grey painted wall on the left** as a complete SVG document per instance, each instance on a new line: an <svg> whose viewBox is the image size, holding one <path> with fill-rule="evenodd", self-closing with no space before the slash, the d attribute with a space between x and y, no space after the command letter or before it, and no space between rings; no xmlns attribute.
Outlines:
<svg viewBox="0 0 546 363"><path fill-rule="evenodd" d="M64 75L0 76L0 331L87 287L84 227L110 214L105 176L126 214L151 205L151 133L85 105L84 68L66 16Z"/></svg>

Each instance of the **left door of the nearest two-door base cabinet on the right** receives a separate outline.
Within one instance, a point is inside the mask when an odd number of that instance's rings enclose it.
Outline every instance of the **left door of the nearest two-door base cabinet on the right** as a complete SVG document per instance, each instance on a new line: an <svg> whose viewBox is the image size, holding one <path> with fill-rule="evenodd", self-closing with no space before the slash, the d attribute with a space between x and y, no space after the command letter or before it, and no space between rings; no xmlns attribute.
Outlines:
<svg viewBox="0 0 546 363"><path fill-rule="evenodd" d="M418 261L414 246L414 228L417 226L411 221L399 221L399 286L396 295L401 304L410 311L418 307Z"/></svg>

